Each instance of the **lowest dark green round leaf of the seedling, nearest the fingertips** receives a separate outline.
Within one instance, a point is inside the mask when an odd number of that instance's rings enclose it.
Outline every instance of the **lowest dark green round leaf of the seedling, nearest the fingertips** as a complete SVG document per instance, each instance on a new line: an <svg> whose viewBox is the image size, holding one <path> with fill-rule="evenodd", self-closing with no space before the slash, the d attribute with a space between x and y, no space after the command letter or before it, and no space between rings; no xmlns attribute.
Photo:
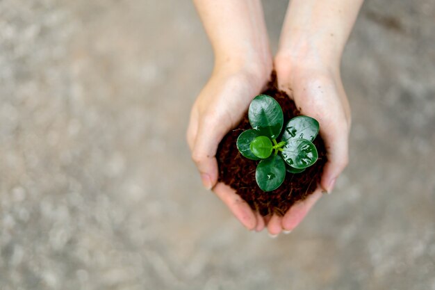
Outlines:
<svg viewBox="0 0 435 290"><path fill-rule="evenodd" d="M255 179L262 191L274 191L286 177L286 163L279 155L272 155L258 163Z"/></svg>

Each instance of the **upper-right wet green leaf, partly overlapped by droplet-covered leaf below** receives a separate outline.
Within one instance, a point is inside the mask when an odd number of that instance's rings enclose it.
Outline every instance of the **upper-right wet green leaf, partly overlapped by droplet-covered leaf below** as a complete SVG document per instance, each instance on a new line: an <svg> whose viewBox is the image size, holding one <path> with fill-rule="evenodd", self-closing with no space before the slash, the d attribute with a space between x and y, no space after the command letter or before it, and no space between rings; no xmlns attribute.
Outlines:
<svg viewBox="0 0 435 290"><path fill-rule="evenodd" d="M300 115L288 121L281 140L305 139L313 142L319 133L319 122L311 117Z"/></svg>

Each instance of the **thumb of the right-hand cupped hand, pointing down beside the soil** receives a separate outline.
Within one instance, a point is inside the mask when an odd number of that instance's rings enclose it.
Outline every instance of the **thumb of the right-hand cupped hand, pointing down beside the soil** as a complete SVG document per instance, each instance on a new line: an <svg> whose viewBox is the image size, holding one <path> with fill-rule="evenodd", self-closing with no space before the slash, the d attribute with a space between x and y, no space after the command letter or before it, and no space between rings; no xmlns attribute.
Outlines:
<svg viewBox="0 0 435 290"><path fill-rule="evenodd" d="M322 126L322 125L320 125ZM327 150L328 162L323 169L320 186L331 193L338 175L345 169L349 161L348 129L345 123L334 123L320 132Z"/></svg>

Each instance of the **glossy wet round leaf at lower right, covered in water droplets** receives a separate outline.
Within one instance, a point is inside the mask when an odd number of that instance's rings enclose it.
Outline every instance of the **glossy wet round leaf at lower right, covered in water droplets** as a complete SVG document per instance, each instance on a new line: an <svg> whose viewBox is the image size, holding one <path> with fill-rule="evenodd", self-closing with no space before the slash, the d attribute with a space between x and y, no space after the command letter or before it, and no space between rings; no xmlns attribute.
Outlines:
<svg viewBox="0 0 435 290"><path fill-rule="evenodd" d="M290 139L281 155L288 165L296 169L310 167L318 159L314 144L305 139Z"/></svg>

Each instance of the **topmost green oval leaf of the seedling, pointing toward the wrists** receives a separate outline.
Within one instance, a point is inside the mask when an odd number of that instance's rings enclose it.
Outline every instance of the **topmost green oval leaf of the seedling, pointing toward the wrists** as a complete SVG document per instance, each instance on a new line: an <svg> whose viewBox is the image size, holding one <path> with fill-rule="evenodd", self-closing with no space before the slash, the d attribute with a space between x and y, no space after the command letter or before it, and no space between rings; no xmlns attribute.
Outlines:
<svg viewBox="0 0 435 290"><path fill-rule="evenodd" d="M256 96L249 105L249 123L261 135L276 139L281 133L284 115L278 102L268 95Z"/></svg>

